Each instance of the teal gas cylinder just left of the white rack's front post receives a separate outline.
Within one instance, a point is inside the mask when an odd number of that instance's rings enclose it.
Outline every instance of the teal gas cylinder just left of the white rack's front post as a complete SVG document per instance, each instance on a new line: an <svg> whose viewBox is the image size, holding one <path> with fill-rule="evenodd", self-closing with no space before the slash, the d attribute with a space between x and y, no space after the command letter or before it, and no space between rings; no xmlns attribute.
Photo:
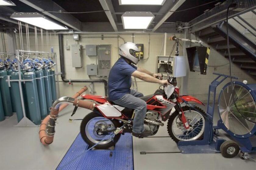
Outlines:
<svg viewBox="0 0 256 170"><path fill-rule="evenodd" d="M21 73L21 77L23 77L23 73ZM11 75L11 80L19 80L19 72L13 71ZM21 82L23 83L23 82ZM13 99L14 106L16 109L16 115L18 119L18 123L21 121L23 118L23 110L22 110L22 105L21 105L21 98L20 98L20 86L18 81L12 81L11 82L11 87L12 87L12 94L15 94L15 98ZM23 90L23 94L24 94ZM24 101L24 106L26 108L27 104L25 104Z"/></svg>

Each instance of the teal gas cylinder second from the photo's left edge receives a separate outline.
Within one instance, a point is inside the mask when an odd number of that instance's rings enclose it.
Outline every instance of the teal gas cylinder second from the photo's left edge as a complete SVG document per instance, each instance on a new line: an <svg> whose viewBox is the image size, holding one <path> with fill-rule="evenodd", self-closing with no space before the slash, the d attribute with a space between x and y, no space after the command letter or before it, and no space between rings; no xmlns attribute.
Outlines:
<svg viewBox="0 0 256 170"><path fill-rule="evenodd" d="M0 78L0 90L2 94L4 113L6 117L10 117L12 116L12 102L8 82L6 82L7 72L5 69L0 70L0 77L3 77Z"/></svg>

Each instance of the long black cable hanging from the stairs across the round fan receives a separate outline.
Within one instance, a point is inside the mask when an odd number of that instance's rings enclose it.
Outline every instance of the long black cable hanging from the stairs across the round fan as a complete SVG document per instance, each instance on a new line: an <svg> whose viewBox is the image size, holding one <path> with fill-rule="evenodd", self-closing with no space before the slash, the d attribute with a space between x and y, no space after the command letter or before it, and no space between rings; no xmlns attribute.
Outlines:
<svg viewBox="0 0 256 170"><path fill-rule="evenodd" d="M227 16L226 16L226 22L227 22L227 47L228 47L228 55L229 55L229 75L230 75L230 86L231 86L231 99L233 100L233 103L236 107L236 110L238 111L238 113L244 118L246 119L247 121L251 122L251 123L256 123L256 121L252 121L250 119L248 119L247 117L244 116L244 114L242 114L240 112L240 110L238 109L237 105L236 105L236 101L234 100L234 96L236 95L236 91L233 89L233 82L232 82L232 66L231 66L231 63L232 63L232 60L231 60L231 55L230 55L230 49L229 49L229 22L228 22L228 18L229 18L229 8L230 7L235 7L236 4L230 4L228 6L228 9L227 9ZM234 87L235 87L235 84L234 84ZM235 115L234 115L235 116Z"/></svg>

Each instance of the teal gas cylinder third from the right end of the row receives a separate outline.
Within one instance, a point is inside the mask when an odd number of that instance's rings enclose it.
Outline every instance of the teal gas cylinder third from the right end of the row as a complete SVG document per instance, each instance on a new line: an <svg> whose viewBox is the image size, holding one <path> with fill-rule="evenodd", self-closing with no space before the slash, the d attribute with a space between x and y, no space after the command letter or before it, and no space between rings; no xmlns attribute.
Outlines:
<svg viewBox="0 0 256 170"><path fill-rule="evenodd" d="M43 70L36 70L35 75L37 79L37 91L40 104L41 119L44 119L48 115L48 107L46 103L45 85L44 85L44 72Z"/></svg>

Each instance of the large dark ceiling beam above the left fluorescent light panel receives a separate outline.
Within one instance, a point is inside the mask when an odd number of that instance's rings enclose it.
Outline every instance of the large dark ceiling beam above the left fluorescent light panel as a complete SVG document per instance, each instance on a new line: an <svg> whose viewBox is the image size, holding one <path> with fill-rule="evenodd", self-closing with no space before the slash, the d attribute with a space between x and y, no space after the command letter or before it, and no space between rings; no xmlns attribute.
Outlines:
<svg viewBox="0 0 256 170"><path fill-rule="evenodd" d="M48 15L49 17L61 22L62 24L69 26L72 29L75 29L77 31L82 30L81 22L77 18L75 18L73 15L67 14L67 13L47 12L47 11L66 12L65 9L60 7L58 4L56 4L52 0L43 0L43 1L42 0L20 0L20 2L23 2L26 5L29 5L30 7L36 9L37 11L40 11L45 15Z"/></svg>

